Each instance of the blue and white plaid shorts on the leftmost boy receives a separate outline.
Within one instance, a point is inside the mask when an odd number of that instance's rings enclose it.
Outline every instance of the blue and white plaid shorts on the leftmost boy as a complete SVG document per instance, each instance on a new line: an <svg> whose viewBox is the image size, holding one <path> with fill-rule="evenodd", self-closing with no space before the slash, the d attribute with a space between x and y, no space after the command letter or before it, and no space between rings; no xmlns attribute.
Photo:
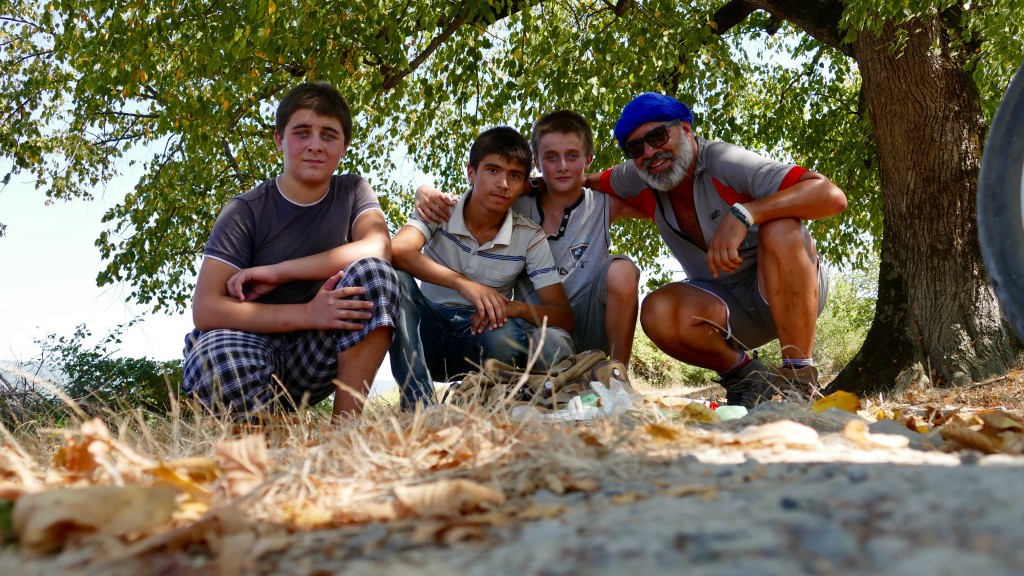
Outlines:
<svg viewBox="0 0 1024 576"><path fill-rule="evenodd" d="M185 336L184 392L210 409L244 413L295 410L331 396L338 353L377 328L394 327L398 317L398 277L387 260L352 262L337 287L347 286L367 289L352 299L374 302L373 318L359 330L193 330Z"/></svg>

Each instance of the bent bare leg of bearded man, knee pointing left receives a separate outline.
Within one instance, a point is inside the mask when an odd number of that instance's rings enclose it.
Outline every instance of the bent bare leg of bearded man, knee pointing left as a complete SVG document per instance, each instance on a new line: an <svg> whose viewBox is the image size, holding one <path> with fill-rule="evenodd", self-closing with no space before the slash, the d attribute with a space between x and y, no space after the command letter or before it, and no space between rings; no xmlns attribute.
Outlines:
<svg viewBox="0 0 1024 576"><path fill-rule="evenodd" d="M727 323L725 303L682 282L666 284L644 298L640 324L644 333L676 360L724 372L739 353L722 331Z"/></svg>

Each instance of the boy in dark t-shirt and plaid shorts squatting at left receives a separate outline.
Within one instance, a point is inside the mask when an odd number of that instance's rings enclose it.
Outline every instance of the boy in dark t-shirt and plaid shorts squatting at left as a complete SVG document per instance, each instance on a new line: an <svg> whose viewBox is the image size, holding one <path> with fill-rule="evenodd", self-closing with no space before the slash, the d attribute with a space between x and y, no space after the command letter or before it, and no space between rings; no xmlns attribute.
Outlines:
<svg viewBox="0 0 1024 576"><path fill-rule="evenodd" d="M278 107L283 173L217 217L184 348L183 388L204 406L252 414L337 392L336 418L361 409L399 293L377 197L361 177L335 174L351 132L337 89L297 86Z"/></svg>

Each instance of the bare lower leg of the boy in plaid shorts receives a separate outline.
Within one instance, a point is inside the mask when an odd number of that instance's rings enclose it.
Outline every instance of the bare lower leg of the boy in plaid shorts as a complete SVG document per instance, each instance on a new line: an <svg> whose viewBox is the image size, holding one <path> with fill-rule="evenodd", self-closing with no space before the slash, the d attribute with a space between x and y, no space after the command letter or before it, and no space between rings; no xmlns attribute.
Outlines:
<svg viewBox="0 0 1024 576"><path fill-rule="evenodd" d="M371 330L361 342L338 354L338 380L342 386L334 395L335 421L343 414L357 415L362 412L364 399L391 345L392 331L390 326ZM351 388L352 392L346 388Z"/></svg>

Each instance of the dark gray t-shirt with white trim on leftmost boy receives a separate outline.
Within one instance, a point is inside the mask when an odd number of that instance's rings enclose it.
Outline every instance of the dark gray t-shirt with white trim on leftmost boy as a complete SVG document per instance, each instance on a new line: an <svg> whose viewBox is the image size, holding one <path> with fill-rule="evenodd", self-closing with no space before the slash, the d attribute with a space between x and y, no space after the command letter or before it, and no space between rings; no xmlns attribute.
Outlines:
<svg viewBox="0 0 1024 576"><path fill-rule="evenodd" d="M370 183L356 174L333 176L327 194L311 204L289 200L275 180L266 180L224 204L205 255L243 270L318 254L351 242L356 218L380 209ZM289 282L258 301L307 302L323 285L323 280Z"/></svg>

